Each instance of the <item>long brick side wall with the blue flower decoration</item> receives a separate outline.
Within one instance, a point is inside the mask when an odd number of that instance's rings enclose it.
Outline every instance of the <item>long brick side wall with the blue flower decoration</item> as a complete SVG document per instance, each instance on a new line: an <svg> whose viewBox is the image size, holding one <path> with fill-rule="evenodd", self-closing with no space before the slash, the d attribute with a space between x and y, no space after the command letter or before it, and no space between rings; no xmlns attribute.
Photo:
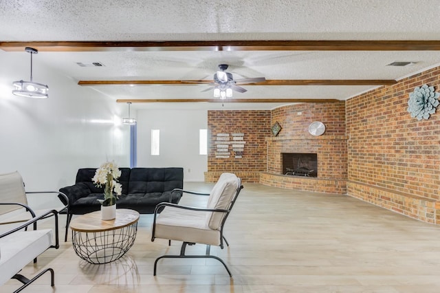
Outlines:
<svg viewBox="0 0 440 293"><path fill-rule="evenodd" d="M410 92L425 83L440 91L439 67L347 100L347 193L437 223L440 109L421 121L407 111Z"/></svg>

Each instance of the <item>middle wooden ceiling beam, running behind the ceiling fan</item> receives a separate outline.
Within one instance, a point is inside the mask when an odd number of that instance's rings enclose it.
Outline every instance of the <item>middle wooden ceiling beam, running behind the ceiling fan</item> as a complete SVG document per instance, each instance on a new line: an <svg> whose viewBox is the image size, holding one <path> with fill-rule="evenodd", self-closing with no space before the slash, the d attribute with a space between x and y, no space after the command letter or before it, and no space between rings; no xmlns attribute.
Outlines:
<svg viewBox="0 0 440 293"><path fill-rule="evenodd" d="M209 84L214 80L80 80L78 85L94 86L94 85L197 85L198 83ZM274 79L265 80L261 83L248 83L245 85L395 85L396 80L359 80L359 79ZM240 84L244 85L244 84Z"/></svg>

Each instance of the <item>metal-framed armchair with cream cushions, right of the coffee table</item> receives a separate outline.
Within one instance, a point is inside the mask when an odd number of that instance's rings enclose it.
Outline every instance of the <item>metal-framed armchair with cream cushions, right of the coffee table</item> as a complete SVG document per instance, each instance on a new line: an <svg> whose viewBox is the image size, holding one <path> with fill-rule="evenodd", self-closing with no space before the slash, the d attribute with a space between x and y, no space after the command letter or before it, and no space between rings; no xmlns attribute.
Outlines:
<svg viewBox="0 0 440 293"><path fill-rule="evenodd" d="M208 258L220 261L232 277L225 262L219 257L210 255L210 246L220 246L223 249L223 241L225 241L223 227L242 188L239 177L232 173L223 173L210 192L206 208L179 206L169 202L158 204L153 217L151 241L161 238L183 241L183 243L180 254L162 255L155 260L153 274L156 275L157 261L160 259ZM179 191L203 195L181 189ZM206 244L206 254L185 254L186 246L196 243Z"/></svg>

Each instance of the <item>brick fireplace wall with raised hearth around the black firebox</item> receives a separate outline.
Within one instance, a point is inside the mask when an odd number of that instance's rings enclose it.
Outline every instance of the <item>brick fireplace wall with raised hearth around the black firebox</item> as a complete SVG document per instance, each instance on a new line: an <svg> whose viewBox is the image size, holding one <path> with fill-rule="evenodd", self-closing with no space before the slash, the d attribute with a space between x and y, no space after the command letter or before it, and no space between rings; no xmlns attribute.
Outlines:
<svg viewBox="0 0 440 293"><path fill-rule="evenodd" d="M272 111L272 122L281 124L276 137L267 138L267 172L262 184L327 193L346 193L347 137L345 136L345 102L303 103L279 107ZM326 126L323 135L309 133L311 122ZM317 153L318 178L281 175L281 153ZM318 182L318 180L320 180Z"/></svg>

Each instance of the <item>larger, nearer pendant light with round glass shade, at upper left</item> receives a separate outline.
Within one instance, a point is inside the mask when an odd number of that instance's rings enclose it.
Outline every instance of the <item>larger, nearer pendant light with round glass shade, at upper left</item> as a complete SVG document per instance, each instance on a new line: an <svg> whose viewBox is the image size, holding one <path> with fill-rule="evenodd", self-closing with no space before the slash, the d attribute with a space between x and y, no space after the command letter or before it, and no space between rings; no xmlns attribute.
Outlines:
<svg viewBox="0 0 440 293"><path fill-rule="evenodd" d="M32 81L32 55L37 54L39 51L31 47L25 47L25 51L30 53L30 81L14 81L12 85L14 85L15 89L12 91L12 94L27 98L48 98L47 91L49 91L49 87Z"/></svg>

